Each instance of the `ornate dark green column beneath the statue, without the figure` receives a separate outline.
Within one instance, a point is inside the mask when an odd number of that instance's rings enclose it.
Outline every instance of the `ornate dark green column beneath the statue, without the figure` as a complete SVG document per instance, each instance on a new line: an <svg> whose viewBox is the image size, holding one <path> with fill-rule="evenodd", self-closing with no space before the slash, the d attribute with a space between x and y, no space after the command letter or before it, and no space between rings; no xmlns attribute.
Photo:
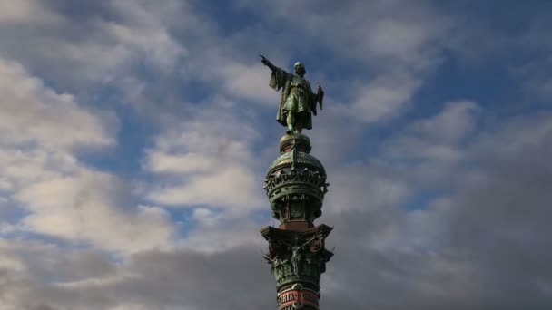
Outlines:
<svg viewBox="0 0 552 310"><path fill-rule="evenodd" d="M320 275L333 253L325 247L332 228L314 220L322 214L328 191L326 170L311 155L311 140L304 134L286 134L280 156L265 179L272 217L279 228L266 227L261 235L269 242L264 258L276 277L279 310L319 309Z"/></svg>

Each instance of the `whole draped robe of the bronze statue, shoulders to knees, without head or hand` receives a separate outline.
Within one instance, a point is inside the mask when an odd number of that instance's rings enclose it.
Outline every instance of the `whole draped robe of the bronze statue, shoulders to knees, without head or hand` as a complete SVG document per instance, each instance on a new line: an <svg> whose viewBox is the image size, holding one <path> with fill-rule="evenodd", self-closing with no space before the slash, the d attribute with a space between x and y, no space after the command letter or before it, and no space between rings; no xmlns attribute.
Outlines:
<svg viewBox="0 0 552 310"><path fill-rule="evenodd" d="M301 113L303 129L312 129L312 112L316 115L317 96L312 93L311 83L305 78L296 74L287 73L281 68L274 68L271 74L269 86L275 91L281 91L280 107L276 115L276 121L282 126L287 126L286 115L284 111L294 111Z"/></svg>

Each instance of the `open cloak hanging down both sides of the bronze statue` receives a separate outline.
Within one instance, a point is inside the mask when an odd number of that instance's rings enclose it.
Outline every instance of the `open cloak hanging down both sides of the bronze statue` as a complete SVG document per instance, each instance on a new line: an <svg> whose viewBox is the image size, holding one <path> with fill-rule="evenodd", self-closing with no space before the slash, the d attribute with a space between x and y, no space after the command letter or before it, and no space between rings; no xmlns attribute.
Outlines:
<svg viewBox="0 0 552 310"><path fill-rule="evenodd" d="M280 122L282 126L286 127L288 125L286 121L286 115L284 114L284 106L286 100L290 96L291 92L291 83L293 82L293 74L287 73L285 70L282 70L278 67L272 70L271 81L269 86L275 91L281 90L281 100L280 107L278 108L278 113L276 114L276 121ZM308 84L307 98L305 100L308 102L309 109L303 113L303 129L312 129L312 114L311 111L316 115L316 96L311 91L311 84L305 80Z"/></svg>

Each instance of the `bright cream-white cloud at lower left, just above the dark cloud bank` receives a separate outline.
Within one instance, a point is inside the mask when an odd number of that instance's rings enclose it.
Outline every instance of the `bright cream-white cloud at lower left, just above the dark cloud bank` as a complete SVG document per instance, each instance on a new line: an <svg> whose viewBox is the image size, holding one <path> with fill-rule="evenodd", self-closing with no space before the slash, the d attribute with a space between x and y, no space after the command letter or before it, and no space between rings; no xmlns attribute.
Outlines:
<svg viewBox="0 0 552 310"><path fill-rule="evenodd" d="M105 173L81 170L20 189L15 201L30 215L20 227L54 237L89 242L113 251L168 247L173 237L169 215L161 208L121 206L122 181Z"/></svg>

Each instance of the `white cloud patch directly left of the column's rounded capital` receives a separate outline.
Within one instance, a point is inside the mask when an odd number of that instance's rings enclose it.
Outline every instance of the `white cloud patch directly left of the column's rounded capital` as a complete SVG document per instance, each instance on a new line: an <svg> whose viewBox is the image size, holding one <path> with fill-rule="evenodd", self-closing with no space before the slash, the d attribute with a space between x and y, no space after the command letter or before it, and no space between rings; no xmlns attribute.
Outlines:
<svg viewBox="0 0 552 310"><path fill-rule="evenodd" d="M190 207L261 207L261 180L251 150L258 132L231 113L195 111L189 121L156 137L143 161L145 170L159 175L157 185L148 189L149 199Z"/></svg>

